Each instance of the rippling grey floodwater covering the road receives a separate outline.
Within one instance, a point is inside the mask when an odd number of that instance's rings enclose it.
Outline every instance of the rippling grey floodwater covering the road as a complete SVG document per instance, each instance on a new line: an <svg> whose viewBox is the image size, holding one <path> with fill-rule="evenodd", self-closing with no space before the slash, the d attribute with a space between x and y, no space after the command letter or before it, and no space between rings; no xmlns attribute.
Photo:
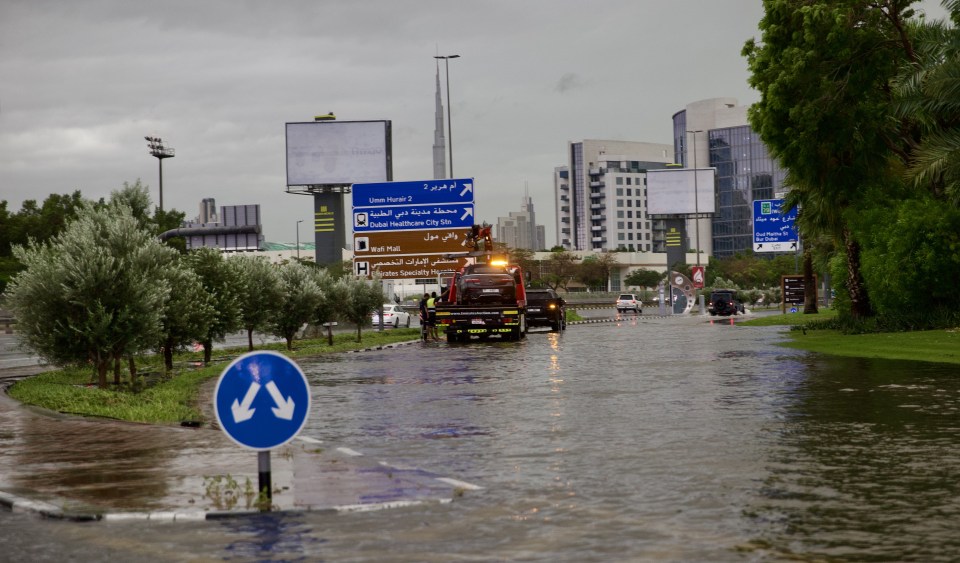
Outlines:
<svg viewBox="0 0 960 563"><path fill-rule="evenodd" d="M0 558L960 559L958 369L827 358L782 338L625 315L519 343L303 361L314 395L302 432L483 489L190 523L0 512Z"/></svg>

